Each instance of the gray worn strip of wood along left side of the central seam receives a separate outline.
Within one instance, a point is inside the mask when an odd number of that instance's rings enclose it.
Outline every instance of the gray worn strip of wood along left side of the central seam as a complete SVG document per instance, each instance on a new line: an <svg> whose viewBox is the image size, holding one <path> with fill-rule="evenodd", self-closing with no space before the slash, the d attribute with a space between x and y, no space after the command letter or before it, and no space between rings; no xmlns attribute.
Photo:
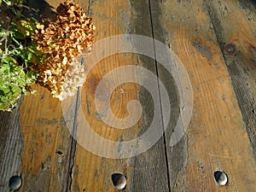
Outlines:
<svg viewBox="0 0 256 192"><path fill-rule="evenodd" d="M152 20L155 17L151 17L149 1L131 1L131 7L136 10L136 17L131 22L130 32L131 34L138 34L147 37L154 38ZM152 47L154 49L154 47ZM139 55L139 59L142 62L141 65L147 70L157 74L156 62L148 58L145 55ZM143 78L143 81L152 82L152 79ZM153 87L159 89L158 84L154 83ZM142 128L146 131L149 125L152 123L154 115L154 108L156 105L160 105L160 100L156 103L150 98L148 90L141 88L139 101L143 106ZM160 99L160 96L157 95ZM160 115L161 116L161 115ZM160 117L158 116L158 117ZM155 129L163 130L162 119L160 119L159 127ZM131 191L170 191L169 185L169 171L166 162L166 148L165 138L161 137L158 143L143 154L139 154L133 158L134 173L132 178Z"/></svg>

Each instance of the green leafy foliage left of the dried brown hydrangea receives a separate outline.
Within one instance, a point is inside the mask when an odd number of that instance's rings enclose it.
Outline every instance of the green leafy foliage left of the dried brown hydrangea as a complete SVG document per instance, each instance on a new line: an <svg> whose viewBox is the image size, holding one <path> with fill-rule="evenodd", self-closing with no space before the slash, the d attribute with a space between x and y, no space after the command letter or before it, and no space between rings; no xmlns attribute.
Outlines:
<svg viewBox="0 0 256 192"><path fill-rule="evenodd" d="M22 0L0 0L0 3L2 2L14 4L15 9L9 9L20 14ZM17 15L15 18L17 19ZM0 27L1 38L7 37L9 33L7 48L0 49L0 110L10 111L15 108L22 93L32 93L28 87L38 79L38 72L32 70L32 67L45 57L45 54L37 49L37 44L31 41L37 24L38 20L26 18L11 23L9 32Z"/></svg>

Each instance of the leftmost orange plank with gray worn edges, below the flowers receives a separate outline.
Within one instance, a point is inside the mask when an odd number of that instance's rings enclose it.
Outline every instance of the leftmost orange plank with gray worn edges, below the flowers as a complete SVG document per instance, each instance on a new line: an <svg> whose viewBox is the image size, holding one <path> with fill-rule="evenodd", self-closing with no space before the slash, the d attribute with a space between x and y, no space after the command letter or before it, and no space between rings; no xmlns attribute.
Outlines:
<svg viewBox="0 0 256 192"><path fill-rule="evenodd" d="M39 9L38 19L53 13L44 1L29 7ZM9 178L20 175L19 191L66 191L72 140L62 117L61 102L53 99L49 90L37 85L33 89L38 90L36 96L25 96L14 113L0 115L4 136L0 190L9 191Z"/></svg>

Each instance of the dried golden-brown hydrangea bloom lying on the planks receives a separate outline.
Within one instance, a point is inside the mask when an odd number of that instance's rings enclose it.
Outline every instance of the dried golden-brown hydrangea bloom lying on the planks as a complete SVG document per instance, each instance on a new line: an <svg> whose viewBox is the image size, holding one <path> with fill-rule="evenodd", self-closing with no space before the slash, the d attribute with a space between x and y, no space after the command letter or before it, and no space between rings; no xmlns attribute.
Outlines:
<svg viewBox="0 0 256 192"><path fill-rule="evenodd" d="M63 100L72 96L85 80L84 66L74 58L88 52L95 41L96 27L84 9L70 1L59 5L55 22L46 23L44 20L38 25L33 36L38 49L47 54L37 66L38 81L48 87L54 97Z"/></svg>

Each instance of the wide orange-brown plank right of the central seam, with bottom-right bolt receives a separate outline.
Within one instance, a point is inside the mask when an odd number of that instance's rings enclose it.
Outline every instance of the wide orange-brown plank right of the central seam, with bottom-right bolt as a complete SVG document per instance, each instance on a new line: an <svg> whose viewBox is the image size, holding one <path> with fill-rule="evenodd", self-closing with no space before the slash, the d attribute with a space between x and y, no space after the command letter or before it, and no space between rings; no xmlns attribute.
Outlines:
<svg viewBox="0 0 256 192"><path fill-rule="evenodd" d="M194 91L187 136L172 148L166 146L172 191L253 191L253 150L205 2L150 3L154 38L170 44ZM226 25L230 30L235 27L230 22ZM172 131L172 123L169 127ZM166 131L166 141L171 131ZM228 185L215 183L217 170L227 173Z"/></svg>

